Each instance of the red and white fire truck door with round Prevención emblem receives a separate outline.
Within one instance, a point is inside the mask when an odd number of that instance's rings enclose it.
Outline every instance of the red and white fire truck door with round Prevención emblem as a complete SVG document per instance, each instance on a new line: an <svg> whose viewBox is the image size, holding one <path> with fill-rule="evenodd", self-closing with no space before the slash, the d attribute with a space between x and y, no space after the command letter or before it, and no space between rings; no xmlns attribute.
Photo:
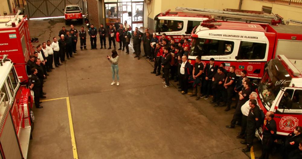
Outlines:
<svg viewBox="0 0 302 159"><path fill-rule="evenodd" d="M302 120L302 88L288 87L279 92L276 98L275 121L277 134L287 135L300 125Z"/></svg>

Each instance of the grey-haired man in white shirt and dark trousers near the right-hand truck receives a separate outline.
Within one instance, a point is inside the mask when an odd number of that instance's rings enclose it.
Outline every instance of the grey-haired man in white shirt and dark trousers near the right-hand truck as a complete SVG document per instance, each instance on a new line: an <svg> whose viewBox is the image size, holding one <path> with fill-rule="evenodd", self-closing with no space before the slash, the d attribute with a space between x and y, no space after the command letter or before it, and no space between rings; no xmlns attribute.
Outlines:
<svg viewBox="0 0 302 159"><path fill-rule="evenodd" d="M257 97L258 97L258 94L256 92L252 92L250 95L249 95L249 100L251 99L255 99L257 101L257 105L259 106L258 104L258 100L257 100ZM241 112L242 112L242 121L241 121L241 132L240 134L237 136L237 138L244 138L245 136L245 131L246 131L246 119L247 119L247 116L249 115L249 110L251 109L251 107L249 106L249 100L246 101L242 106L241 106Z"/></svg>

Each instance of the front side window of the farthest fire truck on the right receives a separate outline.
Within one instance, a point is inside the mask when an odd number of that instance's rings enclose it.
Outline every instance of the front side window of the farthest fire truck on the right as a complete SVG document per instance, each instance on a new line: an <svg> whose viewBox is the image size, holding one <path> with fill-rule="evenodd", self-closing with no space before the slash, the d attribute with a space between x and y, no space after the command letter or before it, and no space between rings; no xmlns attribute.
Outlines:
<svg viewBox="0 0 302 159"><path fill-rule="evenodd" d="M171 32L171 31L180 31L184 27L183 21L177 20L163 20L159 19L156 22L156 32Z"/></svg>

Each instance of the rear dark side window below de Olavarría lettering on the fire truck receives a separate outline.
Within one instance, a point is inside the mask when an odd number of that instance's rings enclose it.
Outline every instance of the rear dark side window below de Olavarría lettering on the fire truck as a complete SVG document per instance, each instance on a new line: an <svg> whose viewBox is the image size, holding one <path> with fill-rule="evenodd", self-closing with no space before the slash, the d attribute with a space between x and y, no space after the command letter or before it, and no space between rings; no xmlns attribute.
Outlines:
<svg viewBox="0 0 302 159"><path fill-rule="evenodd" d="M266 44L241 41L237 59L264 59Z"/></svg>

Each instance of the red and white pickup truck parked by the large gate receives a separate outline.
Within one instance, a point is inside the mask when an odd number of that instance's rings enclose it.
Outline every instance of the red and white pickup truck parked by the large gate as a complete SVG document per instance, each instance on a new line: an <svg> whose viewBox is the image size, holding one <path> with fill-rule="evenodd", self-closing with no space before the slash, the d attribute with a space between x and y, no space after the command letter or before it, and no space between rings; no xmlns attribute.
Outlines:
<svg viewBox="0 0 302 159"><path fill-rule="evenodd" d="M67 25L68 22L71 21L78 21L79 23L83 24L83 15L82 15L82 8L79 5L66 5L64 11L65 16L65 24Z"/></svg>

